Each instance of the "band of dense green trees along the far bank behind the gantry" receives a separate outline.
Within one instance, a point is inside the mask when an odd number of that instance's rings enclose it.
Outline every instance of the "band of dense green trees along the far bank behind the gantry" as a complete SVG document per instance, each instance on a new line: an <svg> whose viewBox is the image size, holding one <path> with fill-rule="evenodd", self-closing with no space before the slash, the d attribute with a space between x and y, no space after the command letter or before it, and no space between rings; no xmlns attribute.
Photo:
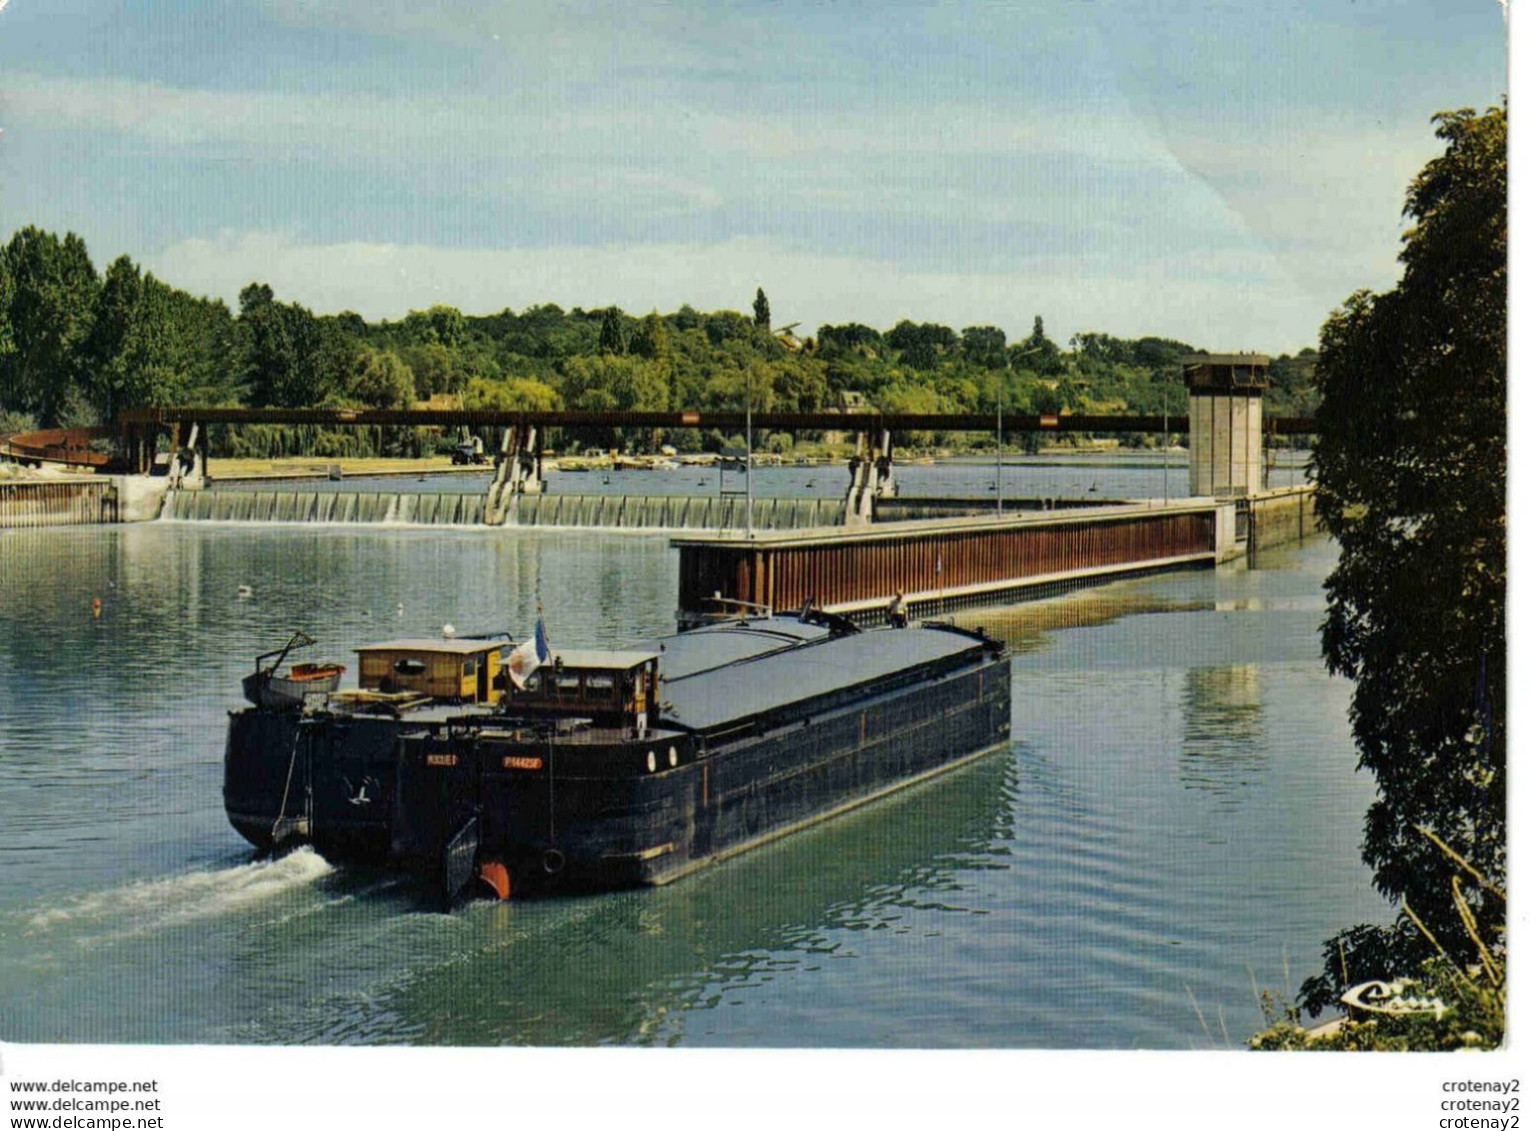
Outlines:
<svg viewBox="0 0 1530 1131"><path fill-rule="evenodd" d="M441 395L496 409L737 409L750 396L756 410L811 412L854 393L895 412L1186 410L1178 358L1193 347L1183 341L1080 334L1065 349L1039 315L1017 343L994 326L956 331L912 320L887 332L848 323L797 337L796 323L773 331L770 318L770 300L757 289L753 317L690 306L633 317L552 305L471 317L433 306L367 323L282 301L265 283L246 286L234 312L127 257L99 277L78 236L60 240L26 228L0 249L0 425L109 422L125 407L165 404L401 407ZM1271 364L1271 412L1311 410L1314 357L1304 350ZM725 438L612 432L584 439L693 448ZM321 455L431 444L419 435L292 429L240 429L216 441L230 455L252 456L289 455L303 444ZM791 438L774 444L789 447Z"/></svg>

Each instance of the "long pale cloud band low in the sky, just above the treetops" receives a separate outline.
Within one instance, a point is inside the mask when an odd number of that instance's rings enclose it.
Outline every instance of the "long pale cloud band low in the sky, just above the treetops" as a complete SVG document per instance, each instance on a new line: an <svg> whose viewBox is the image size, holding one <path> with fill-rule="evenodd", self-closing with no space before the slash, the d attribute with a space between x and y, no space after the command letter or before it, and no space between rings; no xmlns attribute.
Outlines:
<svg viewBox="0 0 1530 1131"><path fill-rule="evenodd" d="M756 286L779 321L900 318L1030 332L1040 314L1054 337L1085 329L1155 334L1207 347L1294 350L1316 344L1328 306L1270 262L1244 256L1121 266L1056 259L1016 272L912 271L894 262L799 253L770 240L646 246L467 249L392 243L303 243L277 233L228 233L145 257L176 286L233 303L249 282L318 312L398 318L433 303L470 314L554 301L630 312L748 308Z"/></svg>

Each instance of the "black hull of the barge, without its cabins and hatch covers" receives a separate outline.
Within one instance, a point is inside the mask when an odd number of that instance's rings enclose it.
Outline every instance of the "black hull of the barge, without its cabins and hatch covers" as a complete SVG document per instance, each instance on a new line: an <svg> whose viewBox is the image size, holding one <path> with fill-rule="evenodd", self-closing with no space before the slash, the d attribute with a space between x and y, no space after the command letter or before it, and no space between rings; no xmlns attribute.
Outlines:
<svg viewBox="0 0 1530 1131"><path fill-rule="evenodd" d="M682 704L641 735L251 709L231 718L225 803L259 848L288 833L433 875L499 862L517 892L667 883L1007 742L1002 647L900 637L874 643L933 655L733 719ZM832 661L832 644L814 649Z"/></svg>

